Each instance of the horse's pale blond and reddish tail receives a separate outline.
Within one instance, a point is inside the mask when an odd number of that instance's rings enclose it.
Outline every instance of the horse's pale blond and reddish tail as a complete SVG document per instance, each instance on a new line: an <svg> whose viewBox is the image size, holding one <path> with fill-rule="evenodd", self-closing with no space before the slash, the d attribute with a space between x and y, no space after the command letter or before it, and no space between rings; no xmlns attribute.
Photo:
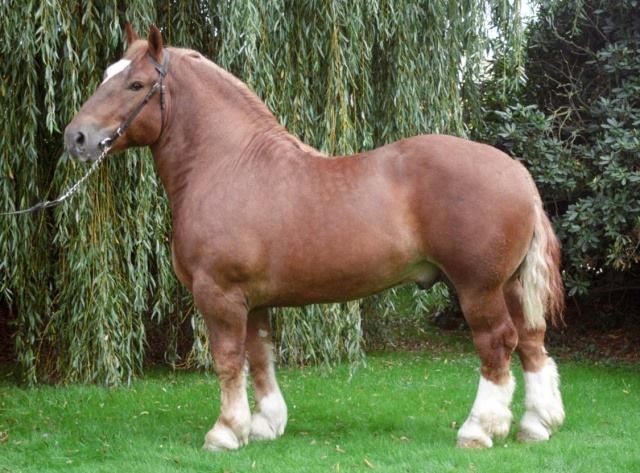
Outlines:
<svg viewBox="0 0 640 473"><path fill-rule="evenodd" d="M538 196L533 239L520 267L519 277L524 289L522 307L525 326L543 329L545 319L549 319L553 325L561 322L564 286L560 274L560 242Z"/></svg>

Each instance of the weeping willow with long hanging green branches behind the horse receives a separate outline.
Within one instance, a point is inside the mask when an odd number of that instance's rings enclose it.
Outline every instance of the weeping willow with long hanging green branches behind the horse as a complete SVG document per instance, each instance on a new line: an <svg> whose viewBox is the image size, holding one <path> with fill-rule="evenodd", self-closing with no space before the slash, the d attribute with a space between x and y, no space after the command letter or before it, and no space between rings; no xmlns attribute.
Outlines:
<svg viewBox="0 0 640 473"><path fill-rule="evenodd" d="M246 81L302 140L348 155L417 133L464 135L492 15L513 28L517 1L0 1L2 208L52 198L84 172L61 133L122 54L125 20L141 32L159 25L170 44ZM170 235L145 150L107 160L61 207L1 217L0 294L24 379L126 382L158 331L169 363L210 366L202 321L173 276ZM385 310L393 297L369 305ZM276 311L281 359L360 359L361 309Z"/></svg>

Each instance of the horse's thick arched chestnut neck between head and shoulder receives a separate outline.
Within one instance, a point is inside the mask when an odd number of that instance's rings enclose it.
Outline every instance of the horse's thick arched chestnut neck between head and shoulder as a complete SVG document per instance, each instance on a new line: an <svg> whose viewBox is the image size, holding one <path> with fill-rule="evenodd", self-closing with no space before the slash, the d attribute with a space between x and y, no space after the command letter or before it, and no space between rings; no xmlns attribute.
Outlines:
<svg viewBox="0 0 640 473"><path fill-rule="evenodd" d="M152 147L172 208L188 191L193 173L228 180L236 177L228 173L238 172L241 160L268 165L274 159L322 156L290 135L235 77L212 63L189 65L173 77L166 126ZM191 70L196 77L186 77Z"/></svg>

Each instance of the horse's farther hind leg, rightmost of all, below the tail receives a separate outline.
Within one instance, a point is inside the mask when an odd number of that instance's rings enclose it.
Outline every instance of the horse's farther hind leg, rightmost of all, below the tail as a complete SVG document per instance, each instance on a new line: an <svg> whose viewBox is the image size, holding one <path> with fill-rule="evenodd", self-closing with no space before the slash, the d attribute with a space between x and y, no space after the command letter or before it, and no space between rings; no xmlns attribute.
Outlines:
<svg viewBox="0 0 640 473"><path fill-rule="evenodd" d="M558 369L544 348L546 328L525 328L522 286L518 280L508 284L504 293L518 330L516 351L524 370L526 412L520 422L518 439L525 442L548 440L553 429L564 422L564 407Z"/></svg>

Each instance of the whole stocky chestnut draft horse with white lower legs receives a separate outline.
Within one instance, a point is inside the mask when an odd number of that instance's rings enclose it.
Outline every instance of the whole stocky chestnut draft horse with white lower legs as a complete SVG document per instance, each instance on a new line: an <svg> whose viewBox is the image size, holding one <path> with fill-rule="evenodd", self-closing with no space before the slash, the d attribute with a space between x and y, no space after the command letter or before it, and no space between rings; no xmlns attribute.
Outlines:
<svg viewBox="0 0 640 473"><path fill-rule="evenodd" d="M207 324L220 381L206 449L284 431L269 307L346 301L407 282L428 288L439 278L455 287L481 360L458 445L491 447L509 432L514 350L526 391L519 437L549 438L564 420L544 348L546 319L563 309L560 250L522 165L440 135L330 159L201 54L165 47L155 27L146 40L126 31L123 59L65 142L83 161L105 146L153 152L171 206L173 266Z"/></svg>

